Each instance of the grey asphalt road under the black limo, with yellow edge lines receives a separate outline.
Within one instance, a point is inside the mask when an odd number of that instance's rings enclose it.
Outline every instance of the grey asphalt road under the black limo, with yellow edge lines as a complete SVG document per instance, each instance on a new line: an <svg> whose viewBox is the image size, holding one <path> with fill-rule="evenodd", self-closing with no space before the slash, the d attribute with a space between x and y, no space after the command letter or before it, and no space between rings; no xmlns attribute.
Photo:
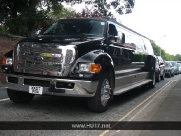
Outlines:
<svg viewBox="0 0 181 136"><path fill-rule="evenodd" d="M15 104L0 87L0 121L149 121L181 75L165 78L153 89L137 88L114 97L104 113L92 113L84 98L35 96ZM121 130L0 130L0 136L116 136L139 135Z"/></svg>

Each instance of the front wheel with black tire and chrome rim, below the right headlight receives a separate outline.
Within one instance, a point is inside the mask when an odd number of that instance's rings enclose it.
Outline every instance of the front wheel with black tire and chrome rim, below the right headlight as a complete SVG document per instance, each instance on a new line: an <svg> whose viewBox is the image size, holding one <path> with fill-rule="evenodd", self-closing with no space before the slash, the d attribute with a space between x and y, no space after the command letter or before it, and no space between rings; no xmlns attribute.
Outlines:
<svg viewBox="0 0 181 136"><path fill-rule="evenodd" d="M104 112L108 109L111 98L111 77L104 73L99 80L94 97L88 98L89 109L93 112Z"/></svg>

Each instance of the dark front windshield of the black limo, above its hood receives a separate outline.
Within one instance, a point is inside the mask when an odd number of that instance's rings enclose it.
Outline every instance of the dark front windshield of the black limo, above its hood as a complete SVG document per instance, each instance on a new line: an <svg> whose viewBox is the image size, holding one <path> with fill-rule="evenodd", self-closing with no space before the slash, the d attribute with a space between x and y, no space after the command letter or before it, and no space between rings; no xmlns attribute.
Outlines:
<svg viewBox="0 0 181 136"><path fill-rule="evenodd" d="M87 35L91 37L102 37L105 22L99 20L60 20L52 24L43 34L56 35Z"/></svg>

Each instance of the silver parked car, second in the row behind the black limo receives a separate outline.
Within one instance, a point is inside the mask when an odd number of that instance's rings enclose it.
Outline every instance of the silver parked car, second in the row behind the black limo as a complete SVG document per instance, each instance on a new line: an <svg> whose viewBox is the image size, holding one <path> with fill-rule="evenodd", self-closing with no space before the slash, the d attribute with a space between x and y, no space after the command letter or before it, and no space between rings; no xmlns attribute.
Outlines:
<svg viewBox="0 0 181 136"><path fill-rule="evenodd" d="M168 77L174 76L174 66L171 62L165 61L165 75Z"/></svg>

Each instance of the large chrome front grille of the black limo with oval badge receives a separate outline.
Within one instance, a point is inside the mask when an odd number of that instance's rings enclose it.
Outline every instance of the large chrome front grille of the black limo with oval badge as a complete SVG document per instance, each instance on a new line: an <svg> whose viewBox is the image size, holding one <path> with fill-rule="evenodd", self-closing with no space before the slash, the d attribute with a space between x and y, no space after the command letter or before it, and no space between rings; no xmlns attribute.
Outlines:
<svg viewBox="0 0 181 136"><path fill-rule="evenodd" d="M14 69L16 72L65 76L61 74L74 60L74 48L56 44L22 43L14 51ZM67 70L66 70L67 71ZM68 72L68 71L67 71Z"/></svg>

